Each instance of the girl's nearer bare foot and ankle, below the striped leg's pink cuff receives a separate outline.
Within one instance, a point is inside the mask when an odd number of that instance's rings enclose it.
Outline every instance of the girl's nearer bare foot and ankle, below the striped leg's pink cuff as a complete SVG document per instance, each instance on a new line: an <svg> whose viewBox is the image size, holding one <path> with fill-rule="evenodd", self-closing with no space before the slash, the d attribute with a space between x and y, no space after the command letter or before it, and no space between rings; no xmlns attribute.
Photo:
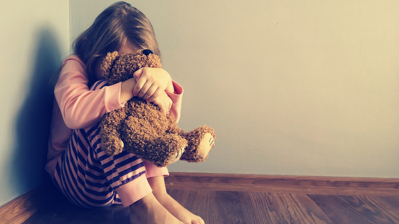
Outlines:
<svg viewBox="0 0 399 224"><path fill-rule="evenodd" d="M131 204L129 208L131 224L183 223L170 214L152 193Z"/></svg>

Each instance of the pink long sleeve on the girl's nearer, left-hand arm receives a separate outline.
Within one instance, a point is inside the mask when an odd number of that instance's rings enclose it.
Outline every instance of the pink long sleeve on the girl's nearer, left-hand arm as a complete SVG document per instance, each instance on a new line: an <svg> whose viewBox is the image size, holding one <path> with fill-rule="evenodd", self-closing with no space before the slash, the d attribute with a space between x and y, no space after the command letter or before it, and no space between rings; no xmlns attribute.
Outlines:
<svg viewBox="0 0 399 224"><path fill-rule="evenodd" d="M76 56L62 63L62 70L54 89L62 118L71 129L91 126L114 109L119 103L121 83L90 91L85 65Z"/></svg>

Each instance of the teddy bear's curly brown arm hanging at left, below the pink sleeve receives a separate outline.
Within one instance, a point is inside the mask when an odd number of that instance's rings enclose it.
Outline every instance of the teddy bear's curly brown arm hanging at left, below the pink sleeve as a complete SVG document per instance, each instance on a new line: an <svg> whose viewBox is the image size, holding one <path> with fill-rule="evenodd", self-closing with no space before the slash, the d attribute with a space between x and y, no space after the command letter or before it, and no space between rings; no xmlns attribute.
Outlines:
<svg viewBox="0 0 399 224"><path fill-rule="evenodd" d="M120 153L124 144L120 136L120 126L126 117L124 108L105 114L101 122L101 148L108 155Z"/></svg>

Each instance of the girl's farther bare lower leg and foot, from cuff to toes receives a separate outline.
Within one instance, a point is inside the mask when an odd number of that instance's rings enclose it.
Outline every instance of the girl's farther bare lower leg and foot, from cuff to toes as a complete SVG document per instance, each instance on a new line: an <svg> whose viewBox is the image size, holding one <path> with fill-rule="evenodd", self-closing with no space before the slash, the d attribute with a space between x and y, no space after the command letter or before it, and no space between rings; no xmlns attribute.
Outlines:
<svg viewBox="0 0 399 224"><path fill-rule="evenodd" d="M192 214L166 192L164 176L149 177L147 180L152 188L153 195L157 198L159 203L176 218L184 223L205 223L200 216Z"/></svg>

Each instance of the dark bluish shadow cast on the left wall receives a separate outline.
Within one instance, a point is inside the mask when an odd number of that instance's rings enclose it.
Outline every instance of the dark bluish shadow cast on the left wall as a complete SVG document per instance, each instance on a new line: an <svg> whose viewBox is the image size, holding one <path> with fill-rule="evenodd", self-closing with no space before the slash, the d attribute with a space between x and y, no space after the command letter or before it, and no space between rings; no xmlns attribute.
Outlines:
<svg viewBox="0 0 399 224"><path fill-rule="evenodd" d="M44 170L54 99L57 70L61 64L60 49L51 29L43 27L37 32L36 52L23 106L16 116L10 185L19 193L27 192L46 180Z"/></svg>

